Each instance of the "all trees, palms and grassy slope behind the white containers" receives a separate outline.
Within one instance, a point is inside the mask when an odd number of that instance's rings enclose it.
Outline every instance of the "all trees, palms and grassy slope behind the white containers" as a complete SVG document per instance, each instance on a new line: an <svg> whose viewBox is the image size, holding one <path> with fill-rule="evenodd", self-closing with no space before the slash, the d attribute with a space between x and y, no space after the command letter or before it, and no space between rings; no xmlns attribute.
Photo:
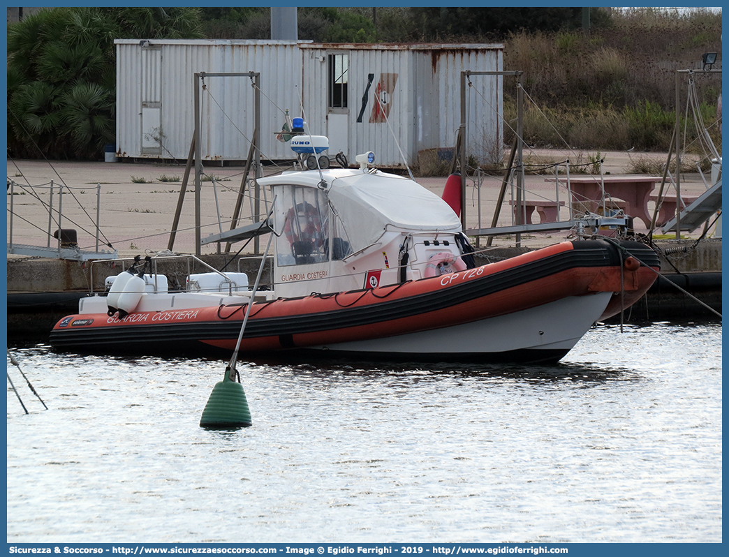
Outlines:
<svg viewBox="0 0 729 557"><path fill-rule="evenodd" d="M300 39L315 42L503 43L504 69L524 72L530 145L665 151L675 122L675 70L698 70L703 52L721 52L721 12L593 8L585 32L581 10L301 7L298 26ZM114 141L114 39L269 36L270 9L263 7L64 7L11 23L9 153L103 156L104 144ZM695 83L703 120L712 125L720 75L697 71ZM515 117L514 96L513 80L504 79L507 122ZM504 128L508 144L512 132ZM709 133L721 149L718 125Z"/></svg>

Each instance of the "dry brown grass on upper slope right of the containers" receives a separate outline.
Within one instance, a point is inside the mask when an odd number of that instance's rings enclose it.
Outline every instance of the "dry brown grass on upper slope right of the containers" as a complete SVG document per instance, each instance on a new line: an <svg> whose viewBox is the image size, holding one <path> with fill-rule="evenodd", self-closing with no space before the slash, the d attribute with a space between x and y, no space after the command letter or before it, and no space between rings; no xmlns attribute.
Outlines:
<svg viewBox="0 0 729 557"><path fill-rule="evenodd" d="M721 34L721 13L709 10L615 11L609 26L590 34L511 34L504 69L524 72L525 90L539 106L620 110L648 101L672 112L675 69L700 69L703 52L720 52ZM715 105L721 77L697 75L696 84L701 101Z"/></svg>

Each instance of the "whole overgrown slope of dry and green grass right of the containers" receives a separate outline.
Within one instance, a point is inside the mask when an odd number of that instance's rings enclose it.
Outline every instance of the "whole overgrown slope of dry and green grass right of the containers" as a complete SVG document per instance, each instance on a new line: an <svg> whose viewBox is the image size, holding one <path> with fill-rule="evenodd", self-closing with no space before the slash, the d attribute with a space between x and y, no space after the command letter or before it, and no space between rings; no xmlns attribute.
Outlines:
<svg viewBox="0 0 729 557"><path fill-rule="evenodd" d="M636 151L668 149L676 122L675 70L696 69L703 121L721 149L721 75L703 74L703 52L721 52L720 12L630 9L613 13L589 34L513 32L504 38L504 69L524 71L524 88L534 101L524 118L530 145ZM513 87L504 84L509 120L515 100ZM682 114L686 90L684 80ZM692 134L690 120L687 136ZM505 135L508 143L513 135Z"/></svg>

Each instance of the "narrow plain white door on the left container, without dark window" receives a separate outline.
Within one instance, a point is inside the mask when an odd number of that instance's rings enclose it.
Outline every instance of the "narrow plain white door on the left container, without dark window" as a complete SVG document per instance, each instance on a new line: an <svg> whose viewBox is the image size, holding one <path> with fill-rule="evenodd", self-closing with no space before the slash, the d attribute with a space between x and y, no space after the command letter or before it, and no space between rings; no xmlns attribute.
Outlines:
<svg viewBox="0 0 729 557"><path fill-rule="evenodd" d="M141 154L161 155L162 48L141 49Z"/></svg>

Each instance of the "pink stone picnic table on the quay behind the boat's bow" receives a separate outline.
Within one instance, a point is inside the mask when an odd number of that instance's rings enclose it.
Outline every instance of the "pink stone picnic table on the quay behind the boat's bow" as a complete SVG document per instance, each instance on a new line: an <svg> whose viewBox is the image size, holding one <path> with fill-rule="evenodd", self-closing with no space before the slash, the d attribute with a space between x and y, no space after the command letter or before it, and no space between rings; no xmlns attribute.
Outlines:
<svg viewBox="0 0 729 557"><path fill-rule="evenodd" d="M554 178L547 178L547 182L554 182ZM559 182L566 186L566 178ZM602 184L605 186L606 198L617 198L625 201L625 214L639 218L646 227L650 227L652 215L648 211L650 193L655 184L660 182L660 176L580 176L569 179L572 190L572 206L582 205L585 210L596 211L602 206Z"/></svg>

